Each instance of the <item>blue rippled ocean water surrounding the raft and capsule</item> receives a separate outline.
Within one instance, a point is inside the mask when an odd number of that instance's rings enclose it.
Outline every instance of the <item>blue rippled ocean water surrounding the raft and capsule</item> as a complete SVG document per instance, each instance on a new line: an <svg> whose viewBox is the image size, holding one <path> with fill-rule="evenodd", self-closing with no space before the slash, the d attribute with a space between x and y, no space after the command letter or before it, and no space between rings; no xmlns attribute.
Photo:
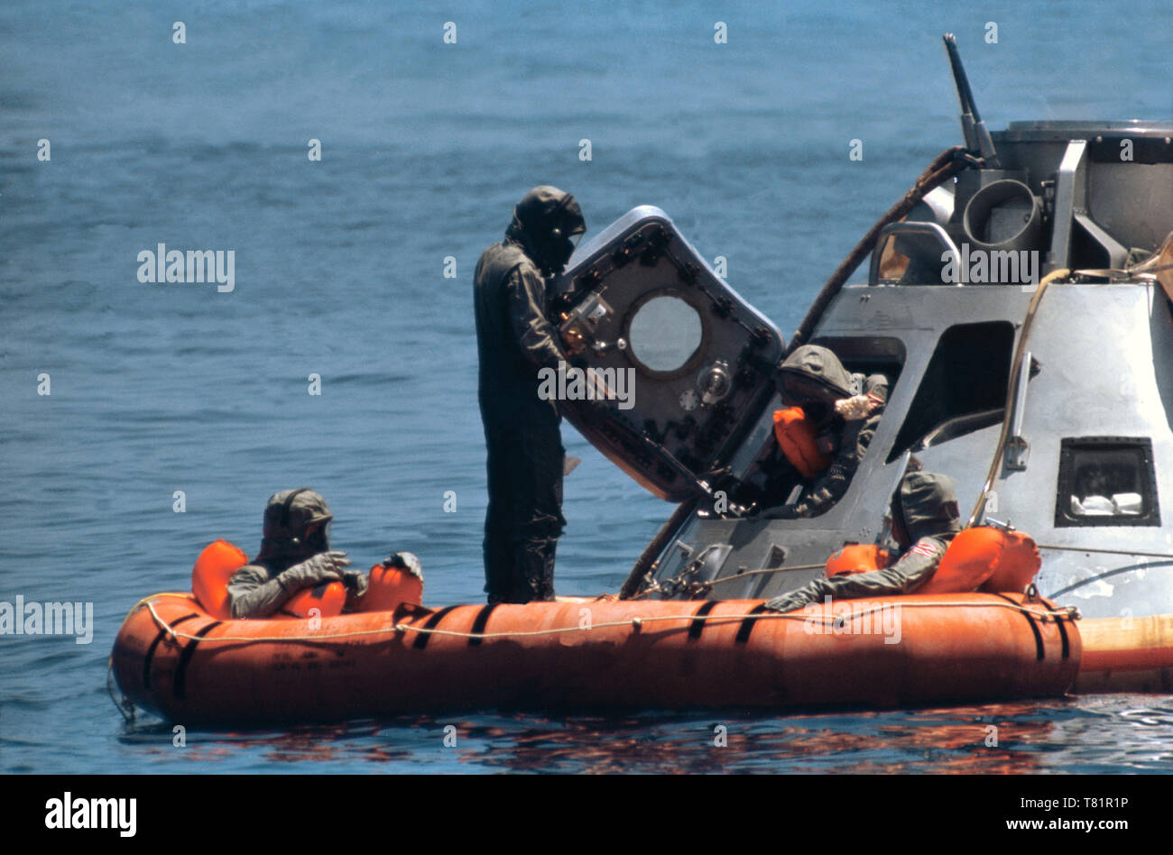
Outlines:
<svg viewBox="0 0 1173 855"><path fill-rule="evenodd" d="M0 636L0 769L1173 771L1169 697L411 718L189 732L184 748L170 728L126 727L107 698L130 605L187 589L209 541L253 552L282 488L328 498L357 564L409 549L429 603L480 600L470 281L517 198L557 184L592 231L659 205L788 333L859 236L960 141L947 30L994 128L1173 115L1161 0L1127 15L1010 0L764 0L719 15L699 2L6 2L0 600L91 602L95 630L89 645ZM52 160L38 160L40 140ZM138 252L161 243L232 250L235 291L140 283ZM564 442L583 463L565 486L558 591L615 590L671 508L569 427Z"/></svg>

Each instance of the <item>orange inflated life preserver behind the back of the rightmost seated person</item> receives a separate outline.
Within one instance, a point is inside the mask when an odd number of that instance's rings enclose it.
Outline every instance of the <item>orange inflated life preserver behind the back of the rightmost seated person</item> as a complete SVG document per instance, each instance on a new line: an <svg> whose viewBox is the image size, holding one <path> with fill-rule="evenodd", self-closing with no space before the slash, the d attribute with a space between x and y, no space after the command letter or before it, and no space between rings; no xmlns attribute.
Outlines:
<svg viewBox="0 0 1173 855"><path fill-rule="evenodd" d="M954 537L936 572L916 589L916 593L961 593L978 589L1017 593L1035 577L1040 563L1038 548L1026 535L978 525Z"/></svg>

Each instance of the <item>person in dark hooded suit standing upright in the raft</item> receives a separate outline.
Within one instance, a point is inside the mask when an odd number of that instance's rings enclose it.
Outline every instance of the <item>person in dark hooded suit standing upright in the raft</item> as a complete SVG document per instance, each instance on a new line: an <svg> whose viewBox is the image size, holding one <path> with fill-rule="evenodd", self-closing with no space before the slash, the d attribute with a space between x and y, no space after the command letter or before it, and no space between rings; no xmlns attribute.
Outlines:
<svg viewBox="0 0 1173 855"><path fill-rule="evenodd" d="M570 194L536 186L517 203L504 240L476 265L479 399L488 448L484 591L489 603L554 599L562 516L562 414L538 396L538 371L567 353L548 317L547 281L586 224Z"/></svg>

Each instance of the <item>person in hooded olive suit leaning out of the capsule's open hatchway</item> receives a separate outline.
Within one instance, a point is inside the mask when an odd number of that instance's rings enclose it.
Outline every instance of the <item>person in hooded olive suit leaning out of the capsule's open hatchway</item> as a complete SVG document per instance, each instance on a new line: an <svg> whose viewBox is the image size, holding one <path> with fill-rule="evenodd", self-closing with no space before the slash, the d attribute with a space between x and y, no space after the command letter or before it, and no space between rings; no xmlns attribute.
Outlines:
<svg viewBox="0 0 1173 855"><path fill-rule="evenodd" d="M761 517L818 516L847 493L883 415L888 378L852 374L830 350L802 345L779 367L778 385L782 402L801 408L806 429L814 435L818 453L829 464L816 474L802 476L787 460L788 455L782 455L780 466L787 471L775 473L771 480L789 483L798 476L804 480L804 489L793 503L767 508Z"/></svg>

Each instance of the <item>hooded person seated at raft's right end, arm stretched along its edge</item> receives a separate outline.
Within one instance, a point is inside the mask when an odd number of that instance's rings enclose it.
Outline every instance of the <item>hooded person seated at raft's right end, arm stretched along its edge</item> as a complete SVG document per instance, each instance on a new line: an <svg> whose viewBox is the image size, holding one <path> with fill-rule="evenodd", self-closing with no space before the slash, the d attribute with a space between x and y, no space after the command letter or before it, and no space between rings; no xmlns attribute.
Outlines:
<svg viewBox="0 0 1173 855"><path fill-rule="evenodd" d="M766 608L786 612L821 603L825 597L859 599L910 593L936 572L958 531L961 514L952 481L936 473L911 471L891 497L891 534L901 549L895 564L884 570L815 579L774 597Z"/></svg>

